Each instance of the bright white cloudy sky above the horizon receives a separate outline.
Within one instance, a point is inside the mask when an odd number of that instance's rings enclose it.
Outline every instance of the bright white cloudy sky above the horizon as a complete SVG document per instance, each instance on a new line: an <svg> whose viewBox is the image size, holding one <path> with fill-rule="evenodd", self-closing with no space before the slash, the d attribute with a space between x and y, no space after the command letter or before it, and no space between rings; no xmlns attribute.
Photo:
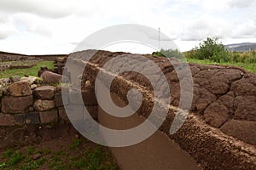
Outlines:
<svg viewBox="0 0 256 170"><path fill-rule="evenodd" d="M256 42L255 8L256 0L1 0L0 51L68 54L119 24L160 27L182 51L206 37Z"/></svg>

